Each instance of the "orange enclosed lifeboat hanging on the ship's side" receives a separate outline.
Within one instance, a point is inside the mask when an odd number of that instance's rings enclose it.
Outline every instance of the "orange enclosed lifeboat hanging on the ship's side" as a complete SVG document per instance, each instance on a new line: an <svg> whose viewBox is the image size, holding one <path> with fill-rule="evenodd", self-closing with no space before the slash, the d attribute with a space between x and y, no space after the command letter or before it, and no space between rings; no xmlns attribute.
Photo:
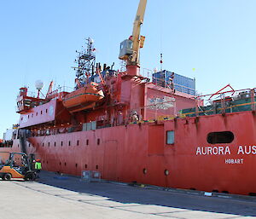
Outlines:
<svg viewBox="0 0 256 219"><path fill-rule="evenodd" d="M67 107L69 112L79 112L95 107L96 103L104 98L103 91L97 89L97 85L92 82L69 93L63 100L64 107Z"/></svg>

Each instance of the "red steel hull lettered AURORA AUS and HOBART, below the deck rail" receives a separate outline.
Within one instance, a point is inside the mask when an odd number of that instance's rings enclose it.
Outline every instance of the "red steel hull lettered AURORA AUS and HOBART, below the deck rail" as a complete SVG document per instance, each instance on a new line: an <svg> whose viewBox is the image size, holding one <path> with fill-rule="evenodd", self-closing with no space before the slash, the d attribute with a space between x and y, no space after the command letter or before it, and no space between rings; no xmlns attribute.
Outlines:
<svg viewBox="0 0 256 219"><path fill-rule="evenodd" d="M44 170L81 175L101 172L102 178L161 187L208 192L256 193L256 117L233 112L177 118L29 138L28 153L42 158ZM174 131L174 144L166 133ZM230 131L230 143L209 144L211 132ZM19 140L12 148L20 151Z"/></svg>

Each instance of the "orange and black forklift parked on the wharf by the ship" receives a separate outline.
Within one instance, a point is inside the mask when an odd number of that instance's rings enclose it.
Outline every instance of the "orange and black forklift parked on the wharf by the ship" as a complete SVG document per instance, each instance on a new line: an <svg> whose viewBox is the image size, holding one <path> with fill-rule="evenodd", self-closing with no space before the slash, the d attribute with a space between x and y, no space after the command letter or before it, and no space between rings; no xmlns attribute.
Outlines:
<svg viewBox="0 0 256 219"><path fill-rule="evenodd" d="M4 162L3 158L8 159ZM26 153L0 152L0 177L4 181L20 178L25 181L34 181L36 171L32 167L32 159Z"/></svg>

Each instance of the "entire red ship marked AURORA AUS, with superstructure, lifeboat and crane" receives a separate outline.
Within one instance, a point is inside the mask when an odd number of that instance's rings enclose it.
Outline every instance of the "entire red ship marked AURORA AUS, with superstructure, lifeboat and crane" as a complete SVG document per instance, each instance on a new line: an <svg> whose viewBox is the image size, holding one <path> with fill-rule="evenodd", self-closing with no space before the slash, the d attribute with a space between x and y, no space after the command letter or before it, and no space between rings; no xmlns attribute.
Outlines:
<svg viewBox="0 0 256 219"><path fill-rule="evenodd" d="M40 98L40 83L37 97L20 88L19 129L0 151L34 153L44 170L71 175L96 170L111 181L255 195L255 89L228 85L198 96L176 90L173 75L143 77L146 3L140 1L133 33L121 43L126 70L96 63L88 38L72 92L51 83Z"/></svg>

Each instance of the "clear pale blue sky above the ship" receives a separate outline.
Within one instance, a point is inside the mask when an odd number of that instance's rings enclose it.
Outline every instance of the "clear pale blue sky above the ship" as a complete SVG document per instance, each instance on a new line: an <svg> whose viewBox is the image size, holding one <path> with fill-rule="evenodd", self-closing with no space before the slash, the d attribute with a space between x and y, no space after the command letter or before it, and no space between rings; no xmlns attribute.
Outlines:
<svg viewBox="0 0 256 219"><path fill-rule="evenodd" d="M119 43L129 37L138 0L0 1L0 138L17 123L20 86L42 79L72 87L75 50L95 40L96 60L119 69ZM148 0L142 34L143 68L196 79L212 93L231 84L255 87L255 0ZM195 71L192 69L195 68Z"/></svg>

